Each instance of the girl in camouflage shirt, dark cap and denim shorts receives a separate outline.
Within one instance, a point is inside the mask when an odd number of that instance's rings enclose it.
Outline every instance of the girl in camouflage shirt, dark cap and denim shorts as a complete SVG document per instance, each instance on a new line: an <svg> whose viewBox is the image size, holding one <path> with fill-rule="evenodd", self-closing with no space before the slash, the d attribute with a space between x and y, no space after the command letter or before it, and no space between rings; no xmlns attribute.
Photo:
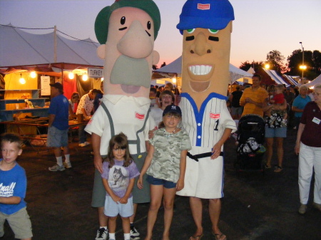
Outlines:
<svg viewBox="0 0 321 240"><path fill-rule="evenodd" d="M186 155L190 150L188 132L178 128L182 112L176 105L169 105L163 111L163 125L154 132L150 140L151 147L146 157L138 188L143 188L143 174L147 172L147 181L151 184L151 204L148 210L147 236L152 237L158 209L164 204L163 239L169 239L169 229L173 218L173 204L176 191L184 187Z"/></svg>

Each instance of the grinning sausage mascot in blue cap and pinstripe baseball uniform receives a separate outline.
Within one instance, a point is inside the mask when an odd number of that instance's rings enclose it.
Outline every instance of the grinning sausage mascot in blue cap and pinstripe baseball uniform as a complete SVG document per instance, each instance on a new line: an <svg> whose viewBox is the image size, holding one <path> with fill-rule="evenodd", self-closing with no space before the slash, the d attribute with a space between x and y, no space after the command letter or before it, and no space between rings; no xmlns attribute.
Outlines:
<svg viewBox="0 0 321 240"><path fill-rule="evenodd" d="M209 199L213 236L226 239L218 221L223 197L223 143L236 130L226 106L233 20L228 0L188 0L177 25L183 34L182 124L193 146L187 157L185 187L177 194L190 197L196 225L190 240L203 237L201 199Z"/></svg>

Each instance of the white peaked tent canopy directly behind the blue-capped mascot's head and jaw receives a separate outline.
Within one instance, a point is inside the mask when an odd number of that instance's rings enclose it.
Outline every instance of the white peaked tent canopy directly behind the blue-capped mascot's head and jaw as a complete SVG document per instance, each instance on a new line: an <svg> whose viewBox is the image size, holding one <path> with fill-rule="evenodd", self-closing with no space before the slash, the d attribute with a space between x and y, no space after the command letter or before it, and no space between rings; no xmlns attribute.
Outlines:
<svg viewBox="0 0 321 240"><path fill-rule="evenodd" d="M176 73L180 75L182 73L182 56L177 58L175 61L172 63L169 63L166 66L163 66L163 68L159 68L155 70L154 72L158 73ZM240 68L237 68L230 64L230 83L234 83L235 80L238 80L240 78L245 78L245 77L252 77L251 73L245 72Z"/></svg>

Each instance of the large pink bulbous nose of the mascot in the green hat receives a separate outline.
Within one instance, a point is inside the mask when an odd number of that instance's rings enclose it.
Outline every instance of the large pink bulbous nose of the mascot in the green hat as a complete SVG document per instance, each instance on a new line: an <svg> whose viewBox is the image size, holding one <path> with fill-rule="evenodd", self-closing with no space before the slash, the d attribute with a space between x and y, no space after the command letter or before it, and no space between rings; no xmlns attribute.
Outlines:
<svg viewBox="0 0 321 240"><path fill-rule="evenodd" d="M131 58L146 58L153 52L153 36L149 36L141 26L141 22L135 20L131 23L127 33L117 44L118 51Z"/></svg>

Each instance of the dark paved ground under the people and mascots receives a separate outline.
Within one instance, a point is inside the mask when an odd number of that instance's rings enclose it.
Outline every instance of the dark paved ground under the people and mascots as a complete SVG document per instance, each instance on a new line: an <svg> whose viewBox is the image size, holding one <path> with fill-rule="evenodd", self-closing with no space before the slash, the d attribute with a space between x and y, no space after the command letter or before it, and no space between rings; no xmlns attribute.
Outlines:
<svg viewBox="0 0 321 240"><path fill-rule="evenodd" d="M295 130L288 132L285 141L284 170L236 173L235 145L232 139L225 145L225 197L223 198L220 229L228 239L321 239L321 212L309 204L307 214L297 214L300 207L297 186L297 156L293 152ZM45 147L41 148L46 150ZM275 157L273 158L276 163ZM93 240L98 227L96 209L91 208L93 186L93 158L91 146L71 144L72 169L49 172L55 164L54 153L37 153L26 147L19 164L26 169L28 190L26 202L34 230L34 240L81 239ZM205 201L206 205L207 202ZM171 239L187 240L195 230L190 214L188 198L176 197ZM142 236L146 233L148 204L138 208L136 226ZM208 212L203 216L204 237L213 239L210 233ZM160 211L154 231L154 239L161 239L163 211ZM5 224L3 239L14 239ZM121 224L116 233L123 239ZM141 238L143 239L143 237Z"/></svg>

